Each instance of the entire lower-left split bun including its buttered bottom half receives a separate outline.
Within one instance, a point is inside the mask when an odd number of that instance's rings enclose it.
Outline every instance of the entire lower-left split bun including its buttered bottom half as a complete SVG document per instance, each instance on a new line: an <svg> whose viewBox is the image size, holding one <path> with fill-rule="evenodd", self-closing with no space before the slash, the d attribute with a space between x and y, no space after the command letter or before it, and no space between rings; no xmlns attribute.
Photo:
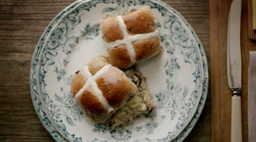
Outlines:
<svg viewBox="0 0 256 142"><path fill-rule="evenodd" d="M71 91L86 116L109 127L128 125L156 108L138 67L121 71L106 55L93 58L72 76Z"/></svg>

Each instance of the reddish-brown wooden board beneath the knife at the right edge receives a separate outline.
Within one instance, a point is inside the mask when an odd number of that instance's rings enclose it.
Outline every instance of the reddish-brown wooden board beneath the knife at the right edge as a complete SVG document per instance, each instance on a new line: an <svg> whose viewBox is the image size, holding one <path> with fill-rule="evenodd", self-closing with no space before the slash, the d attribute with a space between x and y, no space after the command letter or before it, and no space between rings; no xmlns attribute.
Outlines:
<svg viewBox="0 0 256 142"><path fill-rule="evenodd" d="M231 91L227 82L227 25L232 0L210 0L212 85L212 141L230 141ZM243 0L241 18L243 141L248 141L247 84L249 52L256 43L248 39L248 0Z"/></svg>

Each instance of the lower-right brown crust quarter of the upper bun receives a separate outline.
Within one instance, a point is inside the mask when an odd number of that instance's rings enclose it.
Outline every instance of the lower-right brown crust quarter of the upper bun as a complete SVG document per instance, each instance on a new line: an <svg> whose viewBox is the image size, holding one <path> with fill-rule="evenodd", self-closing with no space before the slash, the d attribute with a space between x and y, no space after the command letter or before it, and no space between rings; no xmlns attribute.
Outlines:
<svg viewBox="0 0 256 142"><path fill-rule="evenodd" d="M137 41L132 45L134 47L136 60L138 62L156 55L161 50L159 38L150 38L144 41Z"/></svg>

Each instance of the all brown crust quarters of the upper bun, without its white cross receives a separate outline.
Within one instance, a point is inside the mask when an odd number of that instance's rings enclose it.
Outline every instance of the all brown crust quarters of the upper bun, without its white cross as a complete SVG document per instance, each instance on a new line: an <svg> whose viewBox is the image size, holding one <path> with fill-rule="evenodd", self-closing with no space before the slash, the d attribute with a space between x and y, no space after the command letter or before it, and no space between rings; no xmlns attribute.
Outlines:
<svg viewBox="0 0 256 142"><path fill-rule="evenodd" d="M127 13L127 15L123 15L122 18L124 19L124 23L127 27L126 30L131 36L156 31L156 22L150 8L148 7L143 7L137 11ZM101 25L102 29L106 29L105 27L108 27L111 24L118 25L118 20L116 17L109 17L103 20L102 23L104 23ZM104 32L105 31L102 31L103 38L106 41L107 38L111 38L106 36L111 36L111 34L114 33L120 34L122 31L113 30L111 31L113 33L110 33L109 35L104 34ZM122 38L124 38L124 36L122 36ZM108 41L106 42L108 43ZM162 49L158 36L157 38L146 39L144 41L136 41L132 44L134 45L134 52L136 53L136 60L134 62L131 62L131 57L127 51L126 45L108 48L109 62L113 66L124 69L132 66L132 64L135 64L136 62L141 62L145 59L153 57L154 55L157 55L157 53L159 53Z"/></svg>

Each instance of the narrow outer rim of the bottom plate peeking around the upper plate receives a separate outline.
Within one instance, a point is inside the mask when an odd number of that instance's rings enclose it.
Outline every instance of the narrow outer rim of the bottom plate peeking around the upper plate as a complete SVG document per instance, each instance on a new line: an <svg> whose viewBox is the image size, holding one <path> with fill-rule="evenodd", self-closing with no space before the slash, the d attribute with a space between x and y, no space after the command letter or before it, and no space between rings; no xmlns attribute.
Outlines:
<svg viewBox="0 0 256 142"><path fill-rule="evenodd" d="M37 92L37 84L35 82L33 82L33 80L36 80L36 78L33 78L33 67L38 67L37 63L38 63L38 58L36 57L40 57L40 52L42 51L42 41L44 41L44 38L47 37L47 34L49 32L51 32L51 29L52 27L54 27L54 24L58 23L58 20L60 20L62 17L65 16L66 13L68 13L68 11L72 10L73 8L75 8L77 5L79 5L80 3L82 2L90 2L91 0L88 0L88 1L84 1L84 0L79 0L79 1L76 1L72 4L70 4L67 8L65 8L64 10L62 10L60 13L58 13L58 15L56 17L53 18L53 20L50 22L50 24L46 27L45 31L43 32L42 36L40 37L39 41L38 41L38 44L36 45L36 49L33 53L33 57L32 57L32 60L31 60L31 71L30 71L30 86L31 86L31 98L33 100L33 105L34 105L34 108L35 110L36 109L44 109L44 108L38 108L38 104L36 104L36 102L34 101L35 98L34 97L37 97L36 96L36 93ZM170 8L170 10L174 11L175 14L182 20L182 22L184 22L187 26L188 26L188 29L191 30L191 31L194 31L193 28L188 24L188 22L186 22L186 20L184 19L184 17L182 17L182 15L180 15L179 12L177 12L176 10L174 10L172 7L168 6L167 4L161 2L161 1L158 1L157 2L159 4L163 4L164 6L166 6L167 8ZM196 39L196 41L198 43L200 43L200 45L202 45L202 43L200 42L200 40L198 39L198 36L195 34L195 32L192 32L194 38ZM198 120L198 117L200 116L200 113L202 113L202 109L204 108L204 104L205 104L205 100L206 100L206 97L207 97L207 89L208 89L208 80L209 80L209 75L208 75L208 69L207 69L207 60L206 60L206 57L205 57L205 53L204 53L204 48L202 46L198 46L198 51L200 51L200 57L202 58L202 67L203 67L203 70L204 70L204 83L203 83L203 86L202 87L202 96L201 96L201 99L199 101L199 105L198 105L198 108L196 109L196 113L194 115L194 117L191 118L189 124L185 127L185 129L187 129L186 131L182 131L180 132L179 136L177 136L177 138L175 138L173 141L182 141L184 138L186 138L186 136L188 136L189 132L191 131L191 129L194 127L196 121ZM39 52L39 53L38 53ZM33 90L33 87L35 87L36 85L36 89ZM40 100L38 100L40 101ZM43 116L39 110L36 110L36 113L38 115L38 117L40 118L40 121L42 122L42 124L44 125L45 129L47 129L47 131L51 134L52 138L54 138L56 141L64 141L65 138L62 138L61 134L59 132L57 132L54 127L51 125L51 121L49 121L49 124L45 124L45 122L43 121ZM197 117L197 118L195 118ZM58 136L60 135L60 136Z"/></svg>

